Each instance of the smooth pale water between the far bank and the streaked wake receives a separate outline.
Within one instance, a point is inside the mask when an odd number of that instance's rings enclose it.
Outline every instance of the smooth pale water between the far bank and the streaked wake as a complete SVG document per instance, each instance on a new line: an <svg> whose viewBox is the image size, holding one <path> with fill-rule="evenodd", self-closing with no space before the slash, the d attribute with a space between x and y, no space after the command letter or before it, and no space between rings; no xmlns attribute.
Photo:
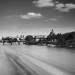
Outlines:
<svg viewBox="0 0 75 75"><path fill-rule="evenodd" d="M12 45L11 49L29 52L31 55L42 58L45 61L55 63L63 68L75 72L75 49L47 47L38 45Z"/></svg>

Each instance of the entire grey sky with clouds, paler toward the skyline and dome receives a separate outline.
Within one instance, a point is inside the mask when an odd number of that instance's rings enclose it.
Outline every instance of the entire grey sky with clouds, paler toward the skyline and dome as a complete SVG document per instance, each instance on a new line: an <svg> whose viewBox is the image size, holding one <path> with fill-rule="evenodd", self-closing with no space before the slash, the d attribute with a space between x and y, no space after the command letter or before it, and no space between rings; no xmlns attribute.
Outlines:
<svg viewBox="0 0 75 75"><path fill-rule="evenodd" d="M75 0L0 0L0 36L75 31Z"/></svg>

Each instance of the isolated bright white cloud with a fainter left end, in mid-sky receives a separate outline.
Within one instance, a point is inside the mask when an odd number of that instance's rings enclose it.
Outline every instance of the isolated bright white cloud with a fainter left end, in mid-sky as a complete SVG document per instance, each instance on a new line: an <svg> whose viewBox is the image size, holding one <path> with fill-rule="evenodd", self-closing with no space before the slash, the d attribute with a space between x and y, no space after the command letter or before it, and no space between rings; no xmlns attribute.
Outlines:
<svg viewBox="0 0 75 75"><path fill-rule="evenodd" d="M31 18L41 18L42 15L40 13L29 12L26 15L20 15L22 19L31 19Z"/></svg>

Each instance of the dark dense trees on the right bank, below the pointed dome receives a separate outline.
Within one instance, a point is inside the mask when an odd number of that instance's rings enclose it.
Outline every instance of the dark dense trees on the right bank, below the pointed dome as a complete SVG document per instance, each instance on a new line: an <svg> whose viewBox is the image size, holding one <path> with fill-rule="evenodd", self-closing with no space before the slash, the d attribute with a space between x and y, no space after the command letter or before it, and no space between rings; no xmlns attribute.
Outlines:
<svg viewBox="0 0 75 75"><path fill-rule="evenodd" d="M47 40L54 42L57 46L75 47L75 32L48 35Z"/></svg>

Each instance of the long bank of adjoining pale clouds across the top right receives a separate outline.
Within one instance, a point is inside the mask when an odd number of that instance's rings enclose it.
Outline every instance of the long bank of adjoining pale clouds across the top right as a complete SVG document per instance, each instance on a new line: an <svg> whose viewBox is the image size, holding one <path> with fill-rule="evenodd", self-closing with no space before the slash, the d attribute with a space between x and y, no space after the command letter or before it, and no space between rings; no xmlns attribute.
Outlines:
<svg viewBox="0 0 75 75"><path fill-rule="evenodd" d="M37 7L54 7L60 12L69 12L71 9L75 9L75 4L73 3L60 3L54 0L37 0L33 1Z"/></svg>

